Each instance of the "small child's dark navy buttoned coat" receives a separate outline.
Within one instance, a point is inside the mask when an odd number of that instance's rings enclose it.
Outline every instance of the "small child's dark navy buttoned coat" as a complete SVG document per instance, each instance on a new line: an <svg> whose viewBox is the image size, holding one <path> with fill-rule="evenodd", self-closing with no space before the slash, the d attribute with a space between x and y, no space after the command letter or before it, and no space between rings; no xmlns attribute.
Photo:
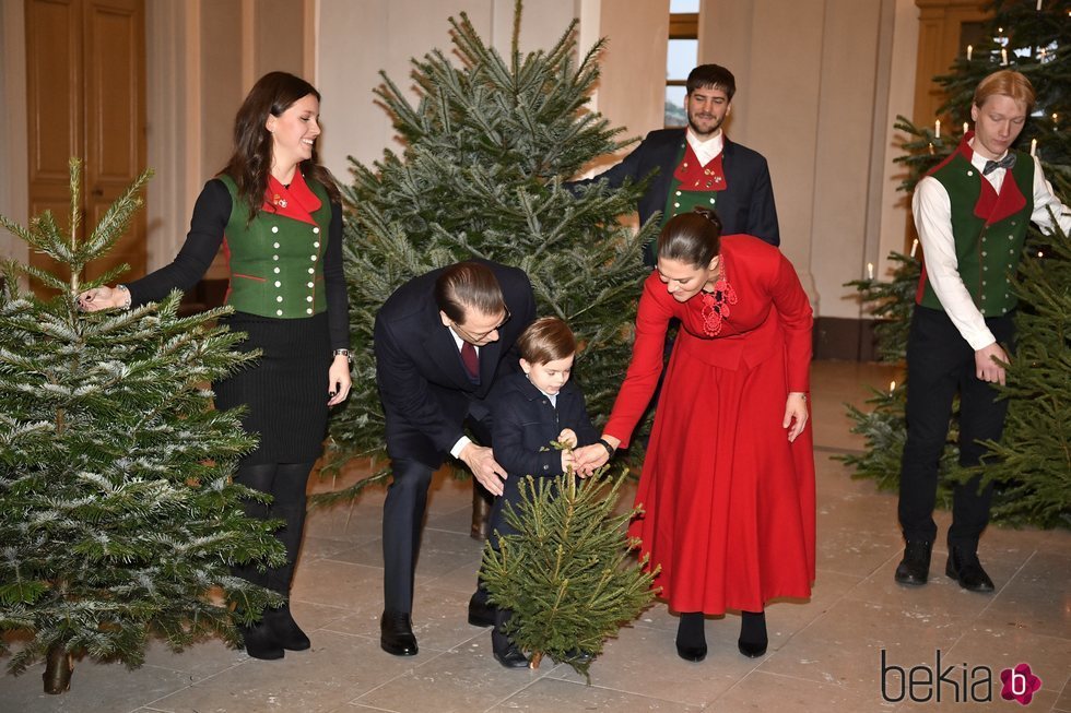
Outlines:
<svg viewBox="0 0 1071 713"><path fill-rule="evenodd" d="M509 480L519 482L526 475L562 475L562 452L550 442L563 428L576 431L577 445L599 440L575 381L565 382L556 402L556 407L551 406L523 372L504 377L495 385L491 395L492 443L495 461L506 468Z"/></svg>

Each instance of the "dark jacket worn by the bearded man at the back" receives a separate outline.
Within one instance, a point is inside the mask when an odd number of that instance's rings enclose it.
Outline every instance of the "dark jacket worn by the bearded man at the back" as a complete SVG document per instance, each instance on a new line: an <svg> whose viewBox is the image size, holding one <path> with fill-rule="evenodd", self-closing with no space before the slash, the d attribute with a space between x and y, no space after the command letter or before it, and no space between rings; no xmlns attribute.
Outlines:
<svg viewBox="0 0 1071 713"><path fill-rule="evenodd" d="M676 156L684 147L684 129L651 131L620 164L574 185L607 180L617 188L625 178L638 181L657 168L658 173L647 192L639 199L639 222L646 223L656 212L666 209L666 198L673 182L673 171L676 170ZM715 210L721 218L722 233L744 233L779 246L781 237L766 159L758 152L725 136L721 162L728 187L718 193ZM652 246L645 248L644 260L647 264L655 264Z"/></svg>

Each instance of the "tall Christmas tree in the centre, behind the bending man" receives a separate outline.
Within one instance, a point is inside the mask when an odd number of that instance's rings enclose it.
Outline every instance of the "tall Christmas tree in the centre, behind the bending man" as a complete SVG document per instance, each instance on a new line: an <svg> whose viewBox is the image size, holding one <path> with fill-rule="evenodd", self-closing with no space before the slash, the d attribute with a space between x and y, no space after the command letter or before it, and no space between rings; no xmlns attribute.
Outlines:
<svg viewBox="0 0 1071 713"><path fill-rule="evenodd" d="M549 50L504 58L468 17L451 20L455 63L435 50L413 61L417 102L382 75L376 95L404 143L372 167L354 162L345 190L345 235L354 387L331 421L327 472L354 456L384 454L372 334L376 311L411 277L460 260L486 258L525 270L540 314L566 320L581 345L574 378L589 411L609 413L627 365L640 248L654 236L619 218L635 211L642 186L576 193L563 177L621 148L617 131L586 111L599 76L601 43L577 62L575 23ZM328 499L352 497L372 476Z"/></svg>

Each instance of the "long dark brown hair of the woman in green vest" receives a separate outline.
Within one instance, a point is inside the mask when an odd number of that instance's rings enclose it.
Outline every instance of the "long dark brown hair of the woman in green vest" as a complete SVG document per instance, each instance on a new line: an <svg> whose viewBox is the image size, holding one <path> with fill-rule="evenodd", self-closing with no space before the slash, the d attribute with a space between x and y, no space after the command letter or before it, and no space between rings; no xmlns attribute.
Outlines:
<svg viewBox="0 0 1071 713"><path fill-rule="evenodd" d="M320 100L320 93L316 87L302 78L286 72L269 72L252 85L234 117L234 153L220 173L234 179L238 195L249 207L250 221L257 216L264 202L268 176L271 173L271 132L264 127L268 115L282 116L294 102L309 94L317 102ZM303 176L323 186L331 202L342 202L334 177L319 165L315 147L313 157L303 161L298 170Z"/></svg>

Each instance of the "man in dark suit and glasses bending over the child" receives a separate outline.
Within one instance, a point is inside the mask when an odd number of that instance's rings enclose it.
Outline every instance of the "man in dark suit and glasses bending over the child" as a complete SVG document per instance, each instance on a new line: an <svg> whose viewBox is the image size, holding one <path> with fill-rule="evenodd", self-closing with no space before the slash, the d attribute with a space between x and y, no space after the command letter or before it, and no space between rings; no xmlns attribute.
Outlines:
<svg viewBox="0 0 1071 713"><path fill-rule="evenodd" d="M492 495L503 492L505 468L490 447L470 440L463 428L469 425L490 443L487 394L503 373L516 370L516 355L506 354L534 317L528 276L485 260L413 278L376 316L376 379L393 471L384 503L380 645L388 653L412 656L417 651L413 575L432 474L454 455Z"/></svg>

